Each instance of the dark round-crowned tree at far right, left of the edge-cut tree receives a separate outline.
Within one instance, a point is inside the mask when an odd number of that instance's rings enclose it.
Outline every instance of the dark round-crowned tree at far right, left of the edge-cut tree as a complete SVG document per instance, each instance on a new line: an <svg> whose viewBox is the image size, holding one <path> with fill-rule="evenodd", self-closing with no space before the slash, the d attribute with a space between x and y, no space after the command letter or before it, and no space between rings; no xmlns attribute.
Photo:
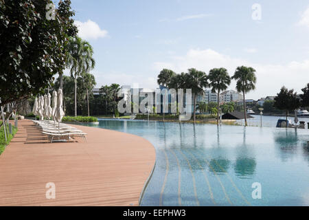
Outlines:
<svg viewBox="0 0 309 220"><path fill-rule="evenodd" d="M288 90L286 87L282 87L275 97L274 107L286 111L286 120L288 120L288 112L298 109L300 105L301 102L294 89ZM286 123L286 126L288 126L288 123Z"/></svg>

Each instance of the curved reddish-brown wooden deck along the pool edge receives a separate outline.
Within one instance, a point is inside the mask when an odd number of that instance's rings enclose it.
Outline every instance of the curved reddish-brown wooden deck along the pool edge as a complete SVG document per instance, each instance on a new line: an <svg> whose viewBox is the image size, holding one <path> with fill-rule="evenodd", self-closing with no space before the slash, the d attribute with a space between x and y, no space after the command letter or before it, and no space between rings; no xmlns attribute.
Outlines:
<svg viewBox="0 0 309 220"><path fill-rule="evenodd" d="M0 155L0 206L138 206L155 148L135 135L76 126L87 143L48 143L30 120ZM56 199L47 199L47 183Z"/></svg>

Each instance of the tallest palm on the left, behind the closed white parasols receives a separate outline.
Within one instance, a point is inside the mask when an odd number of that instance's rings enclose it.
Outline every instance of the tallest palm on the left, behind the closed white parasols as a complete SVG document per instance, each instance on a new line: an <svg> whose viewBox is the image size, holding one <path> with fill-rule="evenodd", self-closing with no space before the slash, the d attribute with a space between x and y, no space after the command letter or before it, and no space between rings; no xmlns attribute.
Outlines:
<svg viewBox="0 0 309 220"><path fill-rule="evenodd" d="M80 39L78 36L69 39L69 53L67 56L67 63L71 67L70 74L75 81L75 116L77 116L77 78L83 72L88 73L95 67L93 59L93 47L87 41Z"/></svg>

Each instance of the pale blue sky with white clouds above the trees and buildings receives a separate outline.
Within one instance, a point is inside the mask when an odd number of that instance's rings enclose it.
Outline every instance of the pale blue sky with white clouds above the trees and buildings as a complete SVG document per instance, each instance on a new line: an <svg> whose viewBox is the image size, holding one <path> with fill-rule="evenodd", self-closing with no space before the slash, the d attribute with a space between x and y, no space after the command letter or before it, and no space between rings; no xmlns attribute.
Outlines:
<svg viewBox="0 0 309 220"><path fill-rule="evenodd" d="M155 89L163 68L225 67L232 76L240 65L258 78L247 98L309 83L308 0L71 1L79 36L93 45L96 87Z"/></svg>

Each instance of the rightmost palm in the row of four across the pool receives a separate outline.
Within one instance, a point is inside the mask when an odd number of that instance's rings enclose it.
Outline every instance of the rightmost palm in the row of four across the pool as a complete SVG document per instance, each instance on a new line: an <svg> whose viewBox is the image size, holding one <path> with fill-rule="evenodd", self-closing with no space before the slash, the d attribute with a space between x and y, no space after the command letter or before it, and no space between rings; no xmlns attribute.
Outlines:
<svg viewBox="0 0 309 220"><path fill-rule="evenodd" d="M256 76L255 69L252 67L237 67L234 76L232 79L237 81L236 89L238 92L242 92L244 100L244 124L247 126L247 108L246 108L246 99L244 97L247 92L255 89Z"/></svg>

